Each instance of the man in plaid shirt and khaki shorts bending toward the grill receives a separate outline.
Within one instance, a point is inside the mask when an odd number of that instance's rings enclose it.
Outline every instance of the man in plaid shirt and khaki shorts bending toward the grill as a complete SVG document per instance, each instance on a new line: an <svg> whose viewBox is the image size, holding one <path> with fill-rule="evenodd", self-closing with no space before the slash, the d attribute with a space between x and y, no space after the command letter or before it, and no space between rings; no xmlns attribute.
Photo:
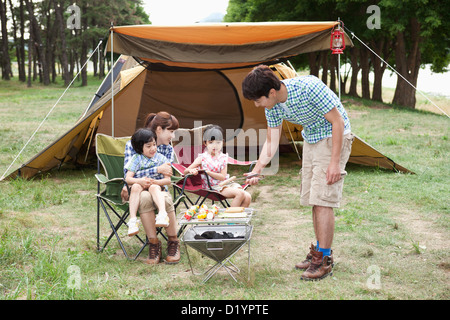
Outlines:
<svg viewBox="0 0 450 320"><path fill-rule="evenodd" d="M251 174L261 174L275 155L282 122L303 126L300 204L312 207L316 245L296 269L305 270L302 280L320 280L332 274L334 211L340 205L345 165L353 135L347 112L339 98L315 76L279 80L265 65L254 68L242 82L246 99L264 107L267 138ZM258 178L247 183L256 184Z"/></svg>

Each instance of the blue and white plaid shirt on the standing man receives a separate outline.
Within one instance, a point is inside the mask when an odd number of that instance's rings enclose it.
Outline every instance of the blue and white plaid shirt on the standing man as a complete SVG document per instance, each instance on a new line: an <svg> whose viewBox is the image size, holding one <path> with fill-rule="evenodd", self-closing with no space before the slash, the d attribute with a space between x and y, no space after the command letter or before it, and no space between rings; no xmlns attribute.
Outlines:
<svg viewBox="0 0 450 320"><path fill-rule="evenodd" d="M265 109L269 127L278 127L283 120L300 124L303 126L303 139L308 143L316 143L331 137L332 125L324 115L336 107L344 119L344 134L351 131L350 120L339 98L319 78L310 75L282 82L286 86L288 98L272 109Z"/></svg>

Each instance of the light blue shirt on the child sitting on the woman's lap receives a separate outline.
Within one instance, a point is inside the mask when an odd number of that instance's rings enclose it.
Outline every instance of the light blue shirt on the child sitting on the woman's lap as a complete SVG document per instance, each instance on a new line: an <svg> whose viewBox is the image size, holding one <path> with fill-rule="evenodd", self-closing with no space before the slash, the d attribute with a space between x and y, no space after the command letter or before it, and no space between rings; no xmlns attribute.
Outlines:
<svg viewBox="0 0 450 320"><path fill-rule="evenodd" d="M155 170L156 173L149 174L148 170L152 168L156 169L157 167L166 162L167 158L158 152L152 158L147 158L143 154L135 153L131 157L130 161L128 161L127 164L124 166L124 168L127 171L134 172L135 178L148 177L156 180L161 180L164 178L164 175L156 172L156 170Z"/></svg>

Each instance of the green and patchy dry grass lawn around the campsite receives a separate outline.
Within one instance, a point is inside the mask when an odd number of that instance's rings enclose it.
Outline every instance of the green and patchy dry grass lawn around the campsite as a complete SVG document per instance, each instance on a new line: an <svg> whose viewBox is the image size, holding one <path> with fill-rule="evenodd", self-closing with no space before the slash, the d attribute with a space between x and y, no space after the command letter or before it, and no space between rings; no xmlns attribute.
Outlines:
<svg viewBox="0 0 450 320"><path fill-rule="evenodd" d="M93 80L70 89L15 166L72 126L99 84ZM0 82L2 173L63 90ZM95 170L66 167L1 183L0 299L449 299L448 118L351 97L343 101L353 131L416 174L348 165L344 202L335 211L333 277L302 282L293 268L314 240L310 209L298 202L295 154L283 154L278 174L250 189L258 209L250 274L244 247L234 260L242 269L239 283L219 272L207 285L191 273L183 246L173 266L148 266L145 254L127 261L116 242L97 253ZM127 248L139 248L121 237ZM211 264L189 250L196 272Z"/></svg>

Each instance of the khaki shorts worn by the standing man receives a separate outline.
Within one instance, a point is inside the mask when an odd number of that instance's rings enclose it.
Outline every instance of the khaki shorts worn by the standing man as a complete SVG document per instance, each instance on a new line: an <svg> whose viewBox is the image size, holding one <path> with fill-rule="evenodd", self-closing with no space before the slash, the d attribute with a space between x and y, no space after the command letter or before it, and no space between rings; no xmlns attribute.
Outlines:
<svg viewBox="0 0 450 320"><path fill-rule="evenodd" d="M317 143L303 143L303 160L301 169L300 204L303 206L323 206L338 208L342 199L345 165L352 150L354 136L344 135L341 158L339 161L342 179L328 185L327 169L331 160L331 137Z"/></svg>

